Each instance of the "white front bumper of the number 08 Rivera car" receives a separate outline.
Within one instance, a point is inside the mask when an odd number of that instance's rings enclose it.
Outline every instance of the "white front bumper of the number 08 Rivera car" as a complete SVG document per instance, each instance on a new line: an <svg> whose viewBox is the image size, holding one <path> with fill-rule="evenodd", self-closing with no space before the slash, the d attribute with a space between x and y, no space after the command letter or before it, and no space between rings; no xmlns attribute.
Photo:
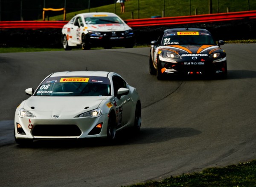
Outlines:
<svg viewBox="0 0 256 187"><path fill-rule="evenodd" d="M64 115L63 115L64 116ZM102 124L102 127L96 125ZM98 118L93 117L65 117L58 119L20 118L15 115L16 139L79 139L106 137L108 127L108 114ZM20 128L21 127L21 128Z"/></svg>

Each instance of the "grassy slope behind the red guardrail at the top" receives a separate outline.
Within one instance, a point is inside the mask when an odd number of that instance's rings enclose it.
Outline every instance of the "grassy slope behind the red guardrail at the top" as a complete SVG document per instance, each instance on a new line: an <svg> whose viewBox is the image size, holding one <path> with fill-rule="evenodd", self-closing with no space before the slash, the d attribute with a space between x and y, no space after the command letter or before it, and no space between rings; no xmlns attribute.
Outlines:
<svg viewBox="0 0 256 187"><path fill-rule="evenodd" d="M139 1L139 12L138 12ZM152 16L162 16L165 10L165 17L188 16L197 14L208 14L208 1L209 0L191 0L191 8L189 0L165 0L165 7L163 7L163 0L130 0L125 2L125 13L120 12L119 3L90 8L90 12L113 12L118 14L123 20L132 19L132 12L134 19L151 18ZM218 6L217 6L218 2ZM256 10L256 0L212 0L212 13L225 13L235 11L248 11ZM75 14L89 12L88 9L67 12L66 20L70 20ZM139 13L139 14L138 14ZM62 20L63 14L55 17L49 17L49 20Z"/></svg>

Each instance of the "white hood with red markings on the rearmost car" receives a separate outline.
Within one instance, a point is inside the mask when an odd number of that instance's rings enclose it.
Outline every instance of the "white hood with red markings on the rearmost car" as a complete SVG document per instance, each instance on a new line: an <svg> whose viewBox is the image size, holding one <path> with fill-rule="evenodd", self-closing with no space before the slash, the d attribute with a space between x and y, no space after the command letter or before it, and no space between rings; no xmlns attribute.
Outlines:
<svg viewBox="0 0 256 187"><path fill-rule="evenodd" d="M107 23L107 24L99 24L99 25L87 25L88 30L92 31L126 31L129 30L130 27L126 24L119 23Z"/></svg>

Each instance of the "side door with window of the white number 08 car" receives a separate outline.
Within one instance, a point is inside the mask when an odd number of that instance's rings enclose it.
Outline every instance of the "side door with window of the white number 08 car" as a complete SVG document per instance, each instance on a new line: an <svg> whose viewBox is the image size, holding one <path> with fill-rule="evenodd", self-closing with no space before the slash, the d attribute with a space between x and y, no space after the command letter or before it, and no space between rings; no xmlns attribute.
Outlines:
<svg viewBox="0 0 256 187"><path fill-rule="evenodd" d="M119 76L113 76L113 89L114 89L114 101L112 101L116 108L116 119L117 128L126 125L132 116L132 103L131 103L131 93L124 96L117 96L117 91L119 88L127 88L127 84L124 79Z"/></svg>

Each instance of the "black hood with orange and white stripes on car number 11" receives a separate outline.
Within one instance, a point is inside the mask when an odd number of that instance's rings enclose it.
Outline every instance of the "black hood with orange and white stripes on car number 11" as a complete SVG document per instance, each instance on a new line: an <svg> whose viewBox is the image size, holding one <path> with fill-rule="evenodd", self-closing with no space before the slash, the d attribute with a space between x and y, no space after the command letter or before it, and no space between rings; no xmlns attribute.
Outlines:
<svg viewBox="0 0 256 187"><path fill-rule="evenodd" d="M220 50L218 45L167 45L159 48L162 50L175 51L179 54L210 54L213 51Z"/></svg>

